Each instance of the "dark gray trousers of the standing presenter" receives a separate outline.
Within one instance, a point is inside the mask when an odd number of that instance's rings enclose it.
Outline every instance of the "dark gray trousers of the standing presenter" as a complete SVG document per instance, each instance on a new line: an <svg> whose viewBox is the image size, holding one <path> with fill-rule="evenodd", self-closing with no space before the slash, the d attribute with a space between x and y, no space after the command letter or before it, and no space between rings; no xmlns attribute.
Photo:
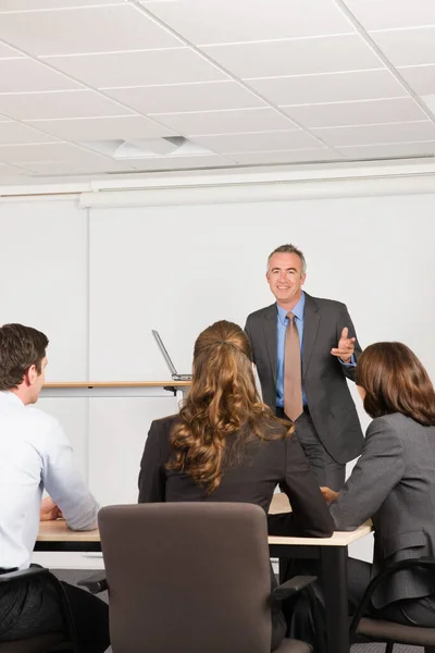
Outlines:
<svg viewBox="0 0 435 653"><path fill-rule="evenodd" d="M276 406L276 417L288 419L284 412L284 408ZM296 434L301 447L310 463L310 467L318 479L320 486L331 488L339 492L345 484L346 465L337 463L327 453L319 433L315 430L308 407L303 408L303 412L295 422Z"/></svg>

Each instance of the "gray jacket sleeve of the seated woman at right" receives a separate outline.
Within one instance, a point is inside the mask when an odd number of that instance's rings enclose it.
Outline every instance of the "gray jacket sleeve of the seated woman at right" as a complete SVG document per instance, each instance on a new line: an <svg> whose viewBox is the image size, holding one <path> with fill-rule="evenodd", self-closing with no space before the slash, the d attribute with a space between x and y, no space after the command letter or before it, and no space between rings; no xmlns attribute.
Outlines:
<svg viewBox="0 0 435 653"><path fill-rule="evenodd" d="M374 420L352 473L330 506L337 530L355 530L373 517L403 469L402 444L395 429L385 418Z"/></svg>

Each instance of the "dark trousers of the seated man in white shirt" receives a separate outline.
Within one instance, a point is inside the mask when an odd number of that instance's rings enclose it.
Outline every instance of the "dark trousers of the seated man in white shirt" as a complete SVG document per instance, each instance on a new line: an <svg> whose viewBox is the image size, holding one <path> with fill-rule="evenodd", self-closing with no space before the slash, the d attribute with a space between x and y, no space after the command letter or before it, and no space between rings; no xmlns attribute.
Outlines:
<svg viewBox="0 0 435 653"><path fill-rule="evenodd" d="M109 606L86 590L66 582L65 589L80 653L103 653L110 645ZM59 595L44 578L11 584L0 592L0 642L48 632L65 632Z"/></svg>

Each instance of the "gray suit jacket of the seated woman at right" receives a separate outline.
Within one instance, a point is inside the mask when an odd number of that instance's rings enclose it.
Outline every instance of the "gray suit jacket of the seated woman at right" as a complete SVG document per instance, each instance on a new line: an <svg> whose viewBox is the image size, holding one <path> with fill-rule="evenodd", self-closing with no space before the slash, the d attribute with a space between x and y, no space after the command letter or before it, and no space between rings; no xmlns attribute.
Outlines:
<svg viewBox="0 0 435 653"><path fill-rule="evenodd" d="M338 530L373 519L373 576L390 563L435 555L435 427L422 427L399 412L374 419L331 513ZM399 571L372 601L381 608L434 592L435 579L428 575Z"/></svg>

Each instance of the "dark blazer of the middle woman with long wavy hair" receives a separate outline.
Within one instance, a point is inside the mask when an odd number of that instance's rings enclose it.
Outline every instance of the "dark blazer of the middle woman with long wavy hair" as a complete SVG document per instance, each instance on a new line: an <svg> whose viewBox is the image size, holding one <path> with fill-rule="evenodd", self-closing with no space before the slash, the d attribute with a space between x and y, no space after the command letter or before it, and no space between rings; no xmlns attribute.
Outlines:
<svg viewBox="0 0 435 653"><path fill-rule="evenodd" d="M269 516L271 534L332 535L333 520L296 436L249 440L238 463L224 469L219 488L207 494L204 488L187 473L166 468L173 454L171 431L177 420L175 415L151 423L140 464L139 503L243 502L257 504L268 513L273 492L279 485L287 494L293 512ZM285 433L285 427L272 420L268 429L271 433ZM272 608L272 630L273 650L285 634L285 621L278 607Z"/></svg>

